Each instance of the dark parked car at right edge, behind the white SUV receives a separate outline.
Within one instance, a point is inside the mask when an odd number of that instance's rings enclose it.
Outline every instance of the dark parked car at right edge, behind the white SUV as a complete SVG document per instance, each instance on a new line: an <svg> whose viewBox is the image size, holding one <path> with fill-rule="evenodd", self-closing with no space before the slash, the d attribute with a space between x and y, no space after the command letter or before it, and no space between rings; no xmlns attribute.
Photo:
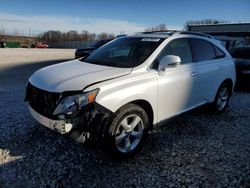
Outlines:
<svg viewBox="0 0 250 188"><path fill-rule="evenodd" d="M250 46L235 47L230 50L235 60L237 85L250 85Z"/></svg>

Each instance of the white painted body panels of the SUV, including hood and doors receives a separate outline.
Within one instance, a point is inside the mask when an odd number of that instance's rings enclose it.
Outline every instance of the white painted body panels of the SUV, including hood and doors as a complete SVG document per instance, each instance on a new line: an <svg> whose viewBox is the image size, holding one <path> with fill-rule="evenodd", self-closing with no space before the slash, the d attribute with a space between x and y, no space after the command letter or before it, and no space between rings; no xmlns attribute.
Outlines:
<svg viewBox="0 0 250 188"><path fill-rule="evenodd" d="M167 67L164 72L150 68L165 45L183 37L208 40L221 48L226 56ZM115 79L106 80L109 78ZM165 39L144 63L133 69L92 65L75 60L41 69L30 78L30 82L51 92L81 90L92 84L85 91L100 88L96 101L112 112L131 101L145 100L152 106L153 123L158 123L201 104L213 102L219 86L227 78L235 84L235 65L219 42L200 36L174 34ZM93 84L98 81L103 82Z"/></svg>

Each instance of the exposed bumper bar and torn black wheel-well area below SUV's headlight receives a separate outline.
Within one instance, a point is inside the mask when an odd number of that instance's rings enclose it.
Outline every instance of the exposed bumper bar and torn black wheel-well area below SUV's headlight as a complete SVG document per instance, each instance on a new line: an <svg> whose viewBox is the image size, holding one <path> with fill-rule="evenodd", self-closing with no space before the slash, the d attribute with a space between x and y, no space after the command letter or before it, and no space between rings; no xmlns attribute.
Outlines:
<svg viewBox="0 0 250 188"><path fill-rule="evenodd" d="M28 108L36 121L60 134L78 130L80 132L89 132L91 135L101 136L113 114L98 103L93 103L82 109L77 117L70 119L50 119L36 112L30 105L28 105Z"/></svg>

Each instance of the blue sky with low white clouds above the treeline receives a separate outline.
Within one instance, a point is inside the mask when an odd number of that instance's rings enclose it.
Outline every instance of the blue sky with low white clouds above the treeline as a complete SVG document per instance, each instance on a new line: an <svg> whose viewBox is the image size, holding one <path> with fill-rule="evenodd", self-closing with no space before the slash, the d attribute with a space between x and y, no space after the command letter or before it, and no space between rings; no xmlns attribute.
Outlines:
<svg viewBox="0 0 250 188"><path fill-rule="evenodd" d="M250 0L0 0L0 32L36 35L47 30L114 34L186 21L250 22Z"/></svg>

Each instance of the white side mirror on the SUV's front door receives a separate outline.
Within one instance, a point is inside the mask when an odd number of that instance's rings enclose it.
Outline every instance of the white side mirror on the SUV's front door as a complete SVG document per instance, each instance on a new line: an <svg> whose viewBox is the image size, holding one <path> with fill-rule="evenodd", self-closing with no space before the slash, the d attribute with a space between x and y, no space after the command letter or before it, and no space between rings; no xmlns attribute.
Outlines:
<svg viewBox="0 0 250 188"><path fill-rule="evenodd" d="M165 69L169 66L178 66L181 63L181 58L176 55L166 55L163 57L159 63L158 70L165 71Z"/></svg>

